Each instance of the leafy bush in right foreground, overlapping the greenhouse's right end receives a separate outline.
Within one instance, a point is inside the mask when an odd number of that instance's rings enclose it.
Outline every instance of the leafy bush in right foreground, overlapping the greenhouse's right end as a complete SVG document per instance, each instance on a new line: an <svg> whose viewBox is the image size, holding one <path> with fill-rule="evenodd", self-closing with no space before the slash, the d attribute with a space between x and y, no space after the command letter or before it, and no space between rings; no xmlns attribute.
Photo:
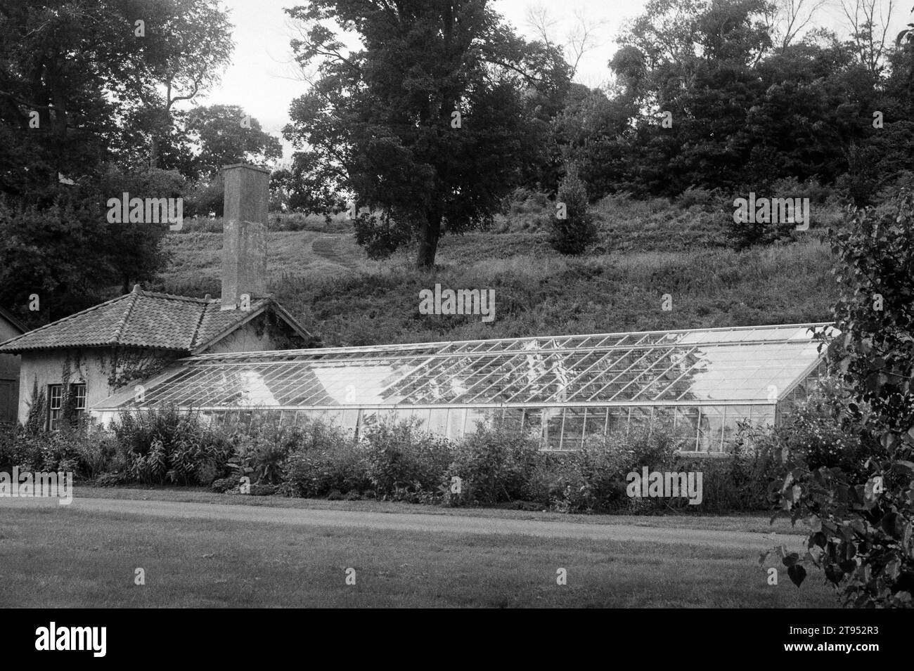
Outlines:
<svg viewBox="0 0 914 671"><path fill-rule="evenodd" d="M800 585L812 564L846 604L914 605L914 194L861 209L831 230L842 294L829 354L853 399L845 422L881 446L864 468L812 467L783 454L781 508L812 529L808 551L780 552Z"/></svg>

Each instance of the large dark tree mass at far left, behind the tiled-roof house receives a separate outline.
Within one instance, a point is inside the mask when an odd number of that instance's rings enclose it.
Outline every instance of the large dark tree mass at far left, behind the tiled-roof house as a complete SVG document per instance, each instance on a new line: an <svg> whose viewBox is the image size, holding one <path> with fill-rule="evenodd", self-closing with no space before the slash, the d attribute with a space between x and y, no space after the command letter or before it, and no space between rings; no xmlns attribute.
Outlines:
<svg viewBox="0 0 914 671"><path fill-rule="evenodd" d="M155 120L227 54L215 0L0 3L0 304L37 325L154 276L165 225L109 224L105 203L180 195L179 176L137 168L181 159Z"/></svg>

